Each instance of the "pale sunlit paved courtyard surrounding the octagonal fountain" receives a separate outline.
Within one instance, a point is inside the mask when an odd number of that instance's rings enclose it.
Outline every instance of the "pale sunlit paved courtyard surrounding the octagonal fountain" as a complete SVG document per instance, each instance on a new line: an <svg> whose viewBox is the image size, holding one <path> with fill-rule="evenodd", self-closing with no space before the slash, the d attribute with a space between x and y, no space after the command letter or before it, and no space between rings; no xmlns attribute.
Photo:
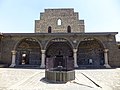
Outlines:
<svg viewBox="0 0 120 90"><path fill-rule="evenodd" d="M44 69L0 68L0 90L120 90L120 68L75 70L75 80L49 83Z"/></svg>

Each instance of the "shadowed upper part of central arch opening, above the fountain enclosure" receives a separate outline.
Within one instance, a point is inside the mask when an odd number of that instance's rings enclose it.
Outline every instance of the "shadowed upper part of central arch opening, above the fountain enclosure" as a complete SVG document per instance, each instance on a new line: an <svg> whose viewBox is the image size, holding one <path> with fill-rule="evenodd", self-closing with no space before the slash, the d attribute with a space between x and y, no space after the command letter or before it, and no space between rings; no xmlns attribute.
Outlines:
<svg viewBox="0 0 120 90"><path fill-rule="evenodd" d="M46 46L46 56L73 56L73 47L64 38L55 38L49 41Z"/></svg>

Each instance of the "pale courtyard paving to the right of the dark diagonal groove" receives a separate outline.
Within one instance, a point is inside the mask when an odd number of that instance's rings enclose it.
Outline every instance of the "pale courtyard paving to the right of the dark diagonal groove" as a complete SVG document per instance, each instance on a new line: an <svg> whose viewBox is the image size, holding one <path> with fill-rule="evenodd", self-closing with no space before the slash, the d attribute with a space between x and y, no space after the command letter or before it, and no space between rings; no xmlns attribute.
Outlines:
<svg viewBox="0 0 120 90"><path fill-rule="evenodd" d="M112 90L120 90L120 68L117 69L99 69L99 70L82 70L80 73L88 75L90 78L97 80L112 88Z"/></svg>

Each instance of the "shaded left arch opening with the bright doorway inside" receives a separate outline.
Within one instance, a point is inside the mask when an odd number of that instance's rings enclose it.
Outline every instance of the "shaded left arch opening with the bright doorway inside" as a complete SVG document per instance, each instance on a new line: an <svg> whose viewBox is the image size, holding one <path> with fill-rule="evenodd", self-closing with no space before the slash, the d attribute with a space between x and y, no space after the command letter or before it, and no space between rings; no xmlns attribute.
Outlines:
<svg viewBox="0 0 120 90"><path fill-rule="evenodd" d="M15 45L16 66L41 64L41 44L33 38L23 38Z"/></svg>

